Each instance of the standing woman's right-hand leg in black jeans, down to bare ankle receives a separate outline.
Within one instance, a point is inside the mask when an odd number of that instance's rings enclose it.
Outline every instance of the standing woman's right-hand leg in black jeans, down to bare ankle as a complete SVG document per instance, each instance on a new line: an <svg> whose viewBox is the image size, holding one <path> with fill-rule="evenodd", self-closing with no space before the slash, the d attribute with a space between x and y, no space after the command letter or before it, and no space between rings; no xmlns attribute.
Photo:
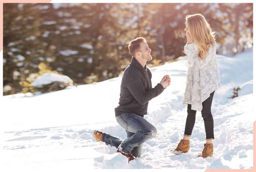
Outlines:
<svg viewBox="0 0 256 172"><path fill-rule="evenodd" d="M207 98L203 102L203 109L202 109L202 117L204 119L204 128L206 132L206 142L208 144L212 143L212 139L214 139L214 123L213 123L213 118L211 114L211 104L212 104L212 99L214 96L214 91L210 94L210 97Z"/></svg>

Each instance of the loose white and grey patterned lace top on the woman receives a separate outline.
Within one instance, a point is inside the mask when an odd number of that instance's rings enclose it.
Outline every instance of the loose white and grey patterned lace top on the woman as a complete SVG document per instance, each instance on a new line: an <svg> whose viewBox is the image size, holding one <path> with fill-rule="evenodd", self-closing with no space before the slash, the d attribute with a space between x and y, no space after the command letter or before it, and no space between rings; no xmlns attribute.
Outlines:
<svg viewBox="0 0 256 172"><path fill-rule="evenodd" d="M191 104L192 110L202 111L202 102L210 97L210 93L221 87L221 80L216 46L210 46L203 60L199 59L197 49L194 43L186 44L184 47L188 55L188 75L183 104Z"/></svg>

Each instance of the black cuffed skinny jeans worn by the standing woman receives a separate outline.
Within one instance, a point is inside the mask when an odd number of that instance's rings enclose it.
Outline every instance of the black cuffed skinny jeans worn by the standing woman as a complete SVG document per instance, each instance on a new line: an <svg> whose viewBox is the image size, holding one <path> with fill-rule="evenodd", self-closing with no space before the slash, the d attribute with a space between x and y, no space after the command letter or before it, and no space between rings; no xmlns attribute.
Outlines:
<svg viewBox="0 0 256 172"><path fill-rule="evenodd" d="M211 114L211 104L212 104L213 95L214 95L214 91L210 94L210 97L208 97L202 103L203 109L202 109L201 113L202 113L202 117L204 119L206 140L214 139L213 118L212 118L212 114ZM186 120L184 136L191 136L192 130L194 128L195 121L196 121L196 110L192 110L191 105L188 104L187 112L188 112L188 116L187 116L187 120Z"/></svg>

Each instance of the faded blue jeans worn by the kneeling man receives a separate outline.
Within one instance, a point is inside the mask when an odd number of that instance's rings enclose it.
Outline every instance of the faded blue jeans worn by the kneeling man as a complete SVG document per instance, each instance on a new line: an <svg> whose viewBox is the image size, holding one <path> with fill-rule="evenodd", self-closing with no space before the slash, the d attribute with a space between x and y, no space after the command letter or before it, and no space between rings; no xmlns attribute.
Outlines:
<svg viewBox="0 0 256 172"><path fill-rule="evenodd" d="M127 139L120 140L120 138L103 133L102 141L107 145L119 148L122 152L140 157L143 143L155 137L157 129L135 113L122 113L116 117L116 121L126 130Z"/></svg>

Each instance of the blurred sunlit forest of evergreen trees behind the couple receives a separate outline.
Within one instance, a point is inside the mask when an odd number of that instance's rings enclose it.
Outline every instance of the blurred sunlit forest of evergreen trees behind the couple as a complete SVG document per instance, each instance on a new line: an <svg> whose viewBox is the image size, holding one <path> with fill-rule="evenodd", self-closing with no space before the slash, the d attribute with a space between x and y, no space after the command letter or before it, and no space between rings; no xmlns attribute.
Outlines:
<svg viewBox="0 0 256 172"><path fill-rule="evenodd" d="M217 34L218 54L253 46L252 3L63 3L3 5L4 95L35 91L31 83L53 72L77 85L122 74L127 44L142 36L149 67L184 54L185 16L202 13Z"/></svg>

